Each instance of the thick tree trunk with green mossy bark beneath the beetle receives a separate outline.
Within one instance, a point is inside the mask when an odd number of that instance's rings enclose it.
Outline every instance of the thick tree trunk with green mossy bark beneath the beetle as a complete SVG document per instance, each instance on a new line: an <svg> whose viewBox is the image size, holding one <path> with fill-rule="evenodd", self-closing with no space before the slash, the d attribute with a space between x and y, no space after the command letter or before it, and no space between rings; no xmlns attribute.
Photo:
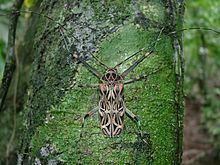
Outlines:
<svg viewBox="0 0 220 165"><path fill-rule="evenodd" d="M182 25L181 1L43 1L38 16L32 78L25 106L26 120L19 161L63 164L180 164L182 151L183 65L179 35L168 35ZM94 54L114 67L130 54L118 72L150 50L161 29L154 53L138 65L132 76L147 79L125 86L126 107L141 121L125 118L120 136L106 138L97 114L81 128L82 117L98 104L98 91L79 84L99 80L77 63L64 46L105 70ZM128 77L127 79L129 79ZM69 87L72 86L71 89ZM82 135L82 136L80 136Z"/></svg>

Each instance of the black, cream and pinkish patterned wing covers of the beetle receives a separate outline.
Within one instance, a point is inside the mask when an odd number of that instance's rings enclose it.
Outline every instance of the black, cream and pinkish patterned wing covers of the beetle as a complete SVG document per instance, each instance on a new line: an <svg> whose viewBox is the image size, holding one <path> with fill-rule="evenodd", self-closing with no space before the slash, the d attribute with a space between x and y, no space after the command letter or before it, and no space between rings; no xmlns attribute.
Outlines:
<svg viewBox="0 0 220 165"><path fill-rule="evenodd" d="M104 135L119 135L124 127L123 84L100 84L99 118Z"/></svg>

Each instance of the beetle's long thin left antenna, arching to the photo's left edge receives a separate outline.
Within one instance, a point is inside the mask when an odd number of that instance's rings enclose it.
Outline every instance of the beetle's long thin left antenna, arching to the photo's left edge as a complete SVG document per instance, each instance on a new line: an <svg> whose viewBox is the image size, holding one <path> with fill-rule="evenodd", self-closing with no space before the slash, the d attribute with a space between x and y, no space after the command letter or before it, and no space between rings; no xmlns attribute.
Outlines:
<svg viewBox="0 0 220 165"><path fill-rule="evenodd" d="M3 12L11 12L11 11L9 11L9 10L2 10L2 9L0 9L0 11L3 11ZM41 13L38 13L38 12L35 12L35 11L30 11L30 10L14 11L14 13L31 13L31 14L39 15L39 16L41 16L41 17L47 18L48 20L50 20L50 21L52 21L52 22L54 22L54 23L60 25L60 27L63 28L64 30L67 30L67 29L64 27L64 25L62 25L61 23L59 23L59 22L56 21L55 19L53 19L53 18L51 18L51 17L49 17L49 16L47 16L47 15L45 15L45 14L41 14ZM0 14L0 16L7 16L7 15L9 15L9 14ZM63 31L63 30L62 30L62 31ZM63 34L64 34L64 33L63 33ZM80 42L75 36L73 36L73 38L74 38L76 41ZM94 56L94 55L93 55L92 53L90 53L90 52L88 52L88 53L89 53L99 64L101 64L102 66L104 66L105 69L109 69L109 67L108 67L105 63L103 63L102 61L100 61L99 58L97 58L96 56Z"/></svg>

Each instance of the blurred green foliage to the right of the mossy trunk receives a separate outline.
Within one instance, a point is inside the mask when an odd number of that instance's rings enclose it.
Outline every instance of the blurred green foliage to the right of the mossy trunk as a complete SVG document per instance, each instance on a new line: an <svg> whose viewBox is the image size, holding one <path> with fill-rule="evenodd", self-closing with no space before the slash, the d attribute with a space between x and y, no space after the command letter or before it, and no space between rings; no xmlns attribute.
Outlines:
<svg viewBox="0 0 220 165"><path fill-rule="evenodd" d="M188 0L185 27L200 26L220 30L219 6L219 0ZM204 36L205 46L202 45L201 35ZM186 31L184 37L186 95L188 99L202 104L203 122L214 145L220 149L220 34L195 30ZM207 55L205 63L201 62L199 53ZM201 83L207 91L206 96L202 92Z"/></svg>

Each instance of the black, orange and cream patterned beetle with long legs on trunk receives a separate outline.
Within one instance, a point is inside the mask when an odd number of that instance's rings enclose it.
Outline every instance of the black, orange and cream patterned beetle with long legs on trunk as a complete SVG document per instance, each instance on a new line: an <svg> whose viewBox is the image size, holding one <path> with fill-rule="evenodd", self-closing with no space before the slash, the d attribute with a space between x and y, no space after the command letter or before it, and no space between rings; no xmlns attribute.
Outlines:
<svg viewBox="0 0 220 165"><path fill-rule="evenodd" d="M99 87L98 107L89 111L84 116L82 127L84 126L84 122L88 117L92 116L95 112L98 112L98 116L100 120L100 128L105 136L115 137L122 132L124 128L125 114L133 122L137 124L138 129L140 130L140 121L138 117L133 112L129 111L125 106L123 91L124 91L124 85L146 78L147 75L139 76L138 78L134 78L126 81L125 81L125 77L134 68L136 68L142 61L144 61L145 58L147 58L149 55L151 55L154 52L154 49L157 45L158 40L160 39L163 30L164 28L160 30L156 41L151 46L151 50L145 52L144 55L142 55L139 59L137 59L130 67L128 67L121 74L118 73L117 67L120 66L123 62L135 56L136 54L144 51L145 50L144 48L130 55L128 58L126 58L125 60L114 66L113 68L109 68L106 64L99 61L100 64L104 65L106 68L105 74L101 74L98 70L96 70L89 63L87 63L85 59L78 57L76 52L74 53L73 56L78 60L78 62L82 63L83 66L93 75L95 75L100 81L98 85ZM63 36L63 40L65 40L65 36L64 35L62 36ZM68 48L67 40L65 40L65 45L67 50L70 51L70 49Z"/></svg>

